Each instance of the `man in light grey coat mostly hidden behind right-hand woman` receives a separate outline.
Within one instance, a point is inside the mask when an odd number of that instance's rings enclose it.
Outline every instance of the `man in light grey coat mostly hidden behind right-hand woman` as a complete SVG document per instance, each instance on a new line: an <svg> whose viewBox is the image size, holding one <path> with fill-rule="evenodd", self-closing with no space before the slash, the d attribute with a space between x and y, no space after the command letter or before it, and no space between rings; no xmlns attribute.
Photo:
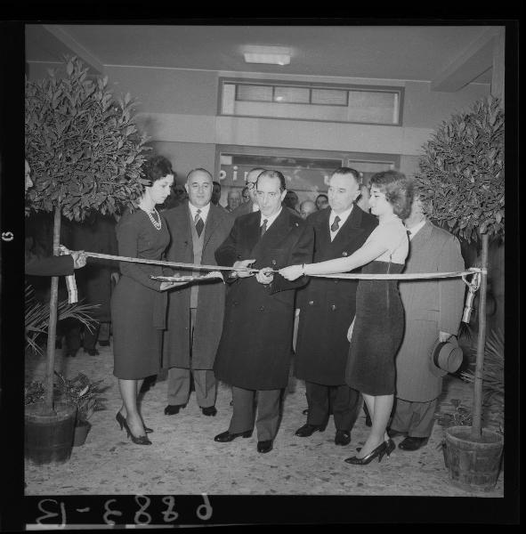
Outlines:
<svg viewBox="0 0 526 534"><path fill-rule="evenodd" d="M464 271L458 239L431 223L417 195L405 221L409 256L404 273ZM390 435L407 436L402 450L425 445L433 430L442 374L430 365L437 340L456 336L464 309L465 285L461 279L415 279L399 283L406 328L396 356L396 400Z"/></svg>

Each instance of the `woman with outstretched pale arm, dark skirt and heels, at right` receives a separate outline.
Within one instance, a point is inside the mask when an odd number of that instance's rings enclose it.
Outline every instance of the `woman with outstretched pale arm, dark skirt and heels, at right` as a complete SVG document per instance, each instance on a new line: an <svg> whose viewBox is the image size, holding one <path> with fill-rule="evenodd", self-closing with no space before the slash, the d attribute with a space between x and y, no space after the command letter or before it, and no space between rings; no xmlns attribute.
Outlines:
<svg viewBox="0 0 526 534"><path fill-rule="evenodd" d="M367 241L348 257L279 270L286 279L302 274L335 274L364 266L362 273L396 274L402 271L409 239L402 223L410 212L412 183L397 171L374 174L369 206L378 226ZM363 394L372 426L368 439L350 464L365 465L373 458L390 455L394 443L386 433L395 385L394 358L400 348L404 316L397 280L360 279L356 315L349 328L351 346L345 382Z"/></svg>

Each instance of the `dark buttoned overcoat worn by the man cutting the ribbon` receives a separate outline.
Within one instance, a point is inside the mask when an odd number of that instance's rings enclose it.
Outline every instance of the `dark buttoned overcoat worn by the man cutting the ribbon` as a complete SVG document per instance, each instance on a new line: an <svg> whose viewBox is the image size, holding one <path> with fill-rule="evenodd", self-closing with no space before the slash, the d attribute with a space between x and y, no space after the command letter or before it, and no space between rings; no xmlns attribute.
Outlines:
<svg viewBox="0 0 526 534"><path fill-rule="evenodd" d="M283 208L260 238L259 212L236 219L215 257L222 265L255 258L253 267L280 269L312 259L312 229ZM274 274L268 286L254 276L235 279L226 299L223 336L214 364L217 378L245 389L280 389L287 385L292 352L295 288Z"/></svg>

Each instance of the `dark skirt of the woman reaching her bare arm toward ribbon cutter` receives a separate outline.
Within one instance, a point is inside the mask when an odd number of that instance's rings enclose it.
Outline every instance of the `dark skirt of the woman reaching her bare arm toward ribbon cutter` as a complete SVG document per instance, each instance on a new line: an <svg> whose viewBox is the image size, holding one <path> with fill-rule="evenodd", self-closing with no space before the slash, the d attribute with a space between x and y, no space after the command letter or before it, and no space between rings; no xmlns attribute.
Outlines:
<svg viewBox="0 0 526 534"><path fill-rule="evenodd" d="M371 262L363 274L397 274L401 263ZM345 382L368 395L392 395L394 358L404 330L398 280L360 279L356 291L356 319L352 330Z"/></svg>

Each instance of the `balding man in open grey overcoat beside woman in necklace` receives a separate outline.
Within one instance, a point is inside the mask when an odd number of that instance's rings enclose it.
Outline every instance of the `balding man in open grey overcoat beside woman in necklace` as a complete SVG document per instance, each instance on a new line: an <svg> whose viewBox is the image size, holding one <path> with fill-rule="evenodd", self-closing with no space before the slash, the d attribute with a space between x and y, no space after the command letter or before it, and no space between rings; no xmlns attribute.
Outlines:
<svg viewBox="0 0 526 534"><path fill-rule="evenodd" d="M164 213L171 234L166 249L169 262L216 265L215 249L231 231L231 214L214 206L212 174L206 169L190 171L185 188L188 201ZM167 275L200 271L166 269ZM179 413L190 396L193 374L198 405L206 416L215 416L217 384L212 370L223 329L225 287L221 280L192 283L168 295L163 367L168 370L168 405L165 414Z"/></svg>

